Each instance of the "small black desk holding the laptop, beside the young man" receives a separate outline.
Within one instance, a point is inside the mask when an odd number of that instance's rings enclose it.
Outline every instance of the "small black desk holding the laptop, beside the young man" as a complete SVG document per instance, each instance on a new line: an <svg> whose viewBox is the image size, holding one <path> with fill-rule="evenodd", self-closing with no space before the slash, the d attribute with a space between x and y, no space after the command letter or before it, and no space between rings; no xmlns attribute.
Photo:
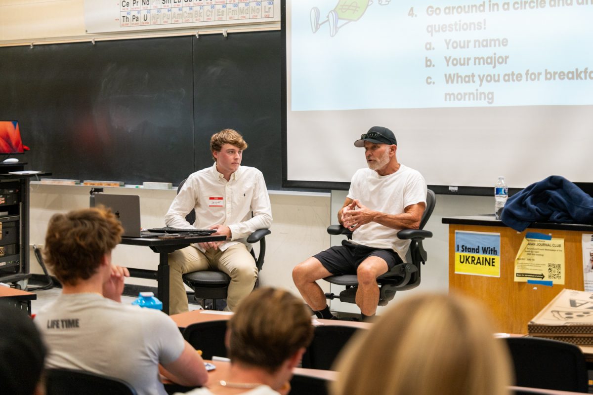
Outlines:
<svg viewBox="0 0 593 395"><path fill-rule="evenodd" d="M149 237L122 237L122 243L130 246L145 246L159 254L158 270L128 268L130 276L157 280L157 298L162 301L162 311L169 313L169 253L186 248L193 243L221 242L225 236L190 236L183 239L152 239Z"/></svg>

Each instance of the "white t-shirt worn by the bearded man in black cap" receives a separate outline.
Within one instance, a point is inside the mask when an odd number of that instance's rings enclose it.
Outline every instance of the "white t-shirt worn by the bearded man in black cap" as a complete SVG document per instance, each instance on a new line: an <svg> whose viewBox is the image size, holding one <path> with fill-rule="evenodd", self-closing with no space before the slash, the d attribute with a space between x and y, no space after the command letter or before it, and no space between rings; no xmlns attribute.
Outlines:
<svg viewBox="0 0 593 395"><path fill-rule="evenodd" d="M407 166L400 165L398 171L385 176L365 168L352 176L347 197L358 199L371 210L401 214L409 205L426 203L426 190L422 174ZM400 230L371 222L354 230L352 242L372 248L393 249L406 262L410 240L398 239L397 232Z"/></svg>

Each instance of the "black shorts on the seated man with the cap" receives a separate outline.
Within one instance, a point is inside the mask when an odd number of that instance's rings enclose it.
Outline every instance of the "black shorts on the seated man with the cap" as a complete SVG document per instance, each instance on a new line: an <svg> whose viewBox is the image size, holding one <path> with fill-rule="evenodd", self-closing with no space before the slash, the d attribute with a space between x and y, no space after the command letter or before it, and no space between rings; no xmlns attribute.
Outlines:
<svg viewBox="0 0 593 395"><path fill-rule="evenodd" d="M391 249L372 248L342 240L341 246L333 246L321 251L313 258L317 258L324 268L333 275L356 274L358 265L369 256L378 256L387 262L389 269L403 263L397 252Z"/></svg>

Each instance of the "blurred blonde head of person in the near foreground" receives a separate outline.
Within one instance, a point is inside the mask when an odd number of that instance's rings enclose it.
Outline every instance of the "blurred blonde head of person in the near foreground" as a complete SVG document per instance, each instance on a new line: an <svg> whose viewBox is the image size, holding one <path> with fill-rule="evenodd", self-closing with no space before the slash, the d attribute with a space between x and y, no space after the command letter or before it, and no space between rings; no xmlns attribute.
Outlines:
<svg viewBox="0 0 593 395"><path fill-rule="evenodd" d="M391 307L340 355L333 395L505 395L511 362L484 308L423 294Z"/></svg>

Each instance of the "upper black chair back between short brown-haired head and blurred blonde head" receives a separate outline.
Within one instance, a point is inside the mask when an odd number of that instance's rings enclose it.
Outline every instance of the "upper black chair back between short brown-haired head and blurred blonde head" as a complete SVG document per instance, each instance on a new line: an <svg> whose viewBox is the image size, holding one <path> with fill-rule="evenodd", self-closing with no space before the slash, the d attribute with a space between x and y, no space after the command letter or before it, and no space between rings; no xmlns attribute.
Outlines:
<svg viewBox="0 0 593 395"><path fill-rule="evenodd" d="M302 356L302 367L331 370L340 351L356 330L359 329L353 326L316 326L313 340Z"/></svg>

